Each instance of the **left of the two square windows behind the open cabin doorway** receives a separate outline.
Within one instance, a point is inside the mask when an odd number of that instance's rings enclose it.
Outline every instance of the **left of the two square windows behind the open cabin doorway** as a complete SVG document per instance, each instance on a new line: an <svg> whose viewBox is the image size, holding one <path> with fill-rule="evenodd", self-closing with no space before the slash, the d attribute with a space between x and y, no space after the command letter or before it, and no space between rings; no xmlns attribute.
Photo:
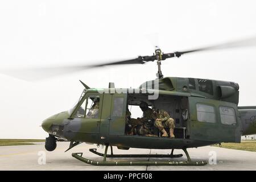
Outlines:
<svg viewBox="0 0 256 182"><path fill-rule="evenodd" d="M196 104L197 120L200 122L216 123L216 114L213 106Z"/></svg>

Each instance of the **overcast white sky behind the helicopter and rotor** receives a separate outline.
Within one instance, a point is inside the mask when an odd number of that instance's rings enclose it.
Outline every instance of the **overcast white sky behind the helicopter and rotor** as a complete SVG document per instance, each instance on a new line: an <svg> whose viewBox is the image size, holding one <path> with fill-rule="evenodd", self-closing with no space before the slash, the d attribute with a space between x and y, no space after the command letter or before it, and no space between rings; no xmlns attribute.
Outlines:
<svg viewBox="0 0 256 182"><path fill-rule="evenodd" d="M93 64L183 51L256 36L255 1L0 1L0 67ZM240 104L256 105L256 48L169 59L164 76L240 84ZM85 70L28 82L0 74L0 138L45 138L43 119L68 110L83 86L134 87L156 63Z"/></svg>

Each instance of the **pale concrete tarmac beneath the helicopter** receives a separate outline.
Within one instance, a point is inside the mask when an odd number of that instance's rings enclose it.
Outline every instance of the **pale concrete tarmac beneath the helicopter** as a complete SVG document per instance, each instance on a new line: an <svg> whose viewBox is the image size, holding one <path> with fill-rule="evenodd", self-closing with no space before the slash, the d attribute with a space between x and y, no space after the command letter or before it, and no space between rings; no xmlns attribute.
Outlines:
<svg viewBox="0 0 256 182"><path fill-rule="evenodd" d="M208 162L206 166L92 166L73 158L71 154L72 152L84 152L83 156L88 159L102 160L101 156L89 152L89 148L97 148L95 144L82 143L64 152L68 146L69 142L57 142L57 148L52 152L46 151L44 143L41 142L27 146L0 146L0 170L256 170L256 152L213 146L188 149L192 160L206 160ZM104 148L99 147L97 151L104 153ZM113 147L113 151L114 154L170 154L171 152L171 150L139 148L118 150L116 147ZM183 154L183 157L171 160L187 160L182 150L175 150L174 154ZM131 160L136 161L138 159L168 160L163 158L133 158ZM117 159L110 158L108 160ZM209 164L209 160L211 164Z"/></svg>

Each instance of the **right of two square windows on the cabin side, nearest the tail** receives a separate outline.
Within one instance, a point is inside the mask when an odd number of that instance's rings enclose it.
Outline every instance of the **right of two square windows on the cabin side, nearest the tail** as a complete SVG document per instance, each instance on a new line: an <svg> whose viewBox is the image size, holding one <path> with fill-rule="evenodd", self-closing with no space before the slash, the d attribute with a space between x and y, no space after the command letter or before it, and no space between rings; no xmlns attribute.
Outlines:
<svg viewBox="0 0 256 182"><path fill-rule="evenodd" d="M236 114L231 107L220 106L221 123L224 125L235 125Z"/></svg>

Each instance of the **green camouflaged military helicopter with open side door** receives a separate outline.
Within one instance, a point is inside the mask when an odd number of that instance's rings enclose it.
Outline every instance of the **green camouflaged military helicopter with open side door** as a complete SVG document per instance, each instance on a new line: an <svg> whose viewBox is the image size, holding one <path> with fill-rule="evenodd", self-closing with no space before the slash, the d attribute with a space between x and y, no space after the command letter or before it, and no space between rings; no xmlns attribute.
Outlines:
<svg viewBox="0 0 256 182"><path fill-rule="evenodd" d="M82 142L104 145L104 154L98 152L96 148L89 150L103 156L102 161L86 159L82 153L72 154L82 162L98 166L203 166L207 164L206 161L192 161L187 148L222 142L240 143L242 135L256 134L256 106L238 106L239 85L236 82L163 77L161 62L186 53L255 46L254 44L255 39L247 39L173 53L163 53L156 47L152 56L139 56L131 60L92 65L92 67L102 67L144 64L156 60L158 73L155 80L146 81L135 89L115 88L114 83L109 83L109 87L105 89L90 88L80 81L85 89L82 91L79 102L72 109L52 115L42 123L43 129L49 133L45 143L46 150L55 150L57 139L67 139L70 141L67 151ZM156 131L154 137L127 134L127 106L138 106L142 101L148 106L168 111L175 120L175 138L162 137L159 131ZM167 155L118 155L113 154L113 146L121 150L155 148L172 151ZM108 147L111 149L111 154L108 154ZM182 149L187 160L138 160L135 162L106 160L107 158L180 158L183 156L175 155L175 149Z"/></svg>

